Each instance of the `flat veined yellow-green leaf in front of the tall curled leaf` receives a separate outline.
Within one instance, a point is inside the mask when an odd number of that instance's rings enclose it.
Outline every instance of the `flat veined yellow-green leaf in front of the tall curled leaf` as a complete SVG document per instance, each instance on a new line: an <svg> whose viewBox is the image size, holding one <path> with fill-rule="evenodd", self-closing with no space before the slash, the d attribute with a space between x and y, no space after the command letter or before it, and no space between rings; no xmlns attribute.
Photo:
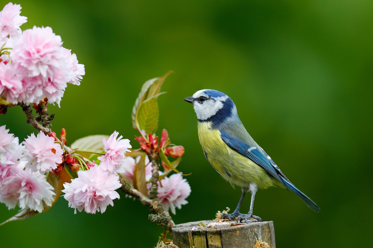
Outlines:
<svg viewBox="0 0 373 248"><path fill-rule="evenodd" d="M139 128L144 130L146 134L153 133L158 127L159 108L158 97L166 92L161 92L145 100L139 109L137 120Z"/></svg>

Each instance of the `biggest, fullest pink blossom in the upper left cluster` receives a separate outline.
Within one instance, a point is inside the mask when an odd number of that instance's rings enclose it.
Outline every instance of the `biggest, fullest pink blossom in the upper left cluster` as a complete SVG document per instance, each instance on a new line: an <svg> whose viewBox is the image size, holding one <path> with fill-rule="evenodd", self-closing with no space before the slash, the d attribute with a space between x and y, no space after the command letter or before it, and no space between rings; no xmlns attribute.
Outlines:
<svg viewBox="0 0 373 248"><path fill-rule="evenodd" d="M25 103L38 102L46 96L50 103L60 105L67 83L76 76L65 59L62 40L50 27L23 31L12 50L12 60L22 77Z"/></svg>

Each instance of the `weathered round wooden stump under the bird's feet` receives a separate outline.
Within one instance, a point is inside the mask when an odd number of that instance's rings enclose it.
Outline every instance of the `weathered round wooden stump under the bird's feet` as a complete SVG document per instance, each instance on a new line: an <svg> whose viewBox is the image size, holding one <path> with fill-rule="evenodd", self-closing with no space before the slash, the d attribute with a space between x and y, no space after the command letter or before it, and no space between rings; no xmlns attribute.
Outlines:
<svg viewBox="0 0 373 248"><path fill-rule="evenodd" d="M208 226L212 220L175 225L172 227L173 243L179 248L276 248L273 221L250 220L252 222L248 224L235 221L214 222L217 223L216 227ZM198 225L201 222L203 224Z"/></svg>

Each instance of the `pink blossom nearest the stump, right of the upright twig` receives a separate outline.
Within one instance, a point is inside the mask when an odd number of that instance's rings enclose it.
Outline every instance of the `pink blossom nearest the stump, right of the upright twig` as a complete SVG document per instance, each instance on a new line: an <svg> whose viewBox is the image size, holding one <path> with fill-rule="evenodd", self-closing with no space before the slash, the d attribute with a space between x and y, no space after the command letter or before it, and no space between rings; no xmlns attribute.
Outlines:
<svg viewBox="0 0 373 248"><path fill-rule="evenodd" d="M175 215L175 206L181 209L181 205L188 203L185 199L189 196L191 189L181 174L172 174L170 177L163 178L160 183L158 182L158 187L158 201L164 210L171 209Z"/></svg>

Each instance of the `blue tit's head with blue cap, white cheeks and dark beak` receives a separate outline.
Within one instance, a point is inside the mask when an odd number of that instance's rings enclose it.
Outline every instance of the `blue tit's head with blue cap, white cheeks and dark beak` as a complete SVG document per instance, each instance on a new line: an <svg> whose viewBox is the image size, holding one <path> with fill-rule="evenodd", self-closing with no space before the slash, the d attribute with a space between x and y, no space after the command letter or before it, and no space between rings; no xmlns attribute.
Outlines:
<svg viewBox="0 0 373 248"><path fill-rule="evenodd" d="M217 90L198 90L193 96L185 97L186 102L192 103L197 118L200 121L214 119L223 120L237 115L237 109L231 98Z"/></svg>

